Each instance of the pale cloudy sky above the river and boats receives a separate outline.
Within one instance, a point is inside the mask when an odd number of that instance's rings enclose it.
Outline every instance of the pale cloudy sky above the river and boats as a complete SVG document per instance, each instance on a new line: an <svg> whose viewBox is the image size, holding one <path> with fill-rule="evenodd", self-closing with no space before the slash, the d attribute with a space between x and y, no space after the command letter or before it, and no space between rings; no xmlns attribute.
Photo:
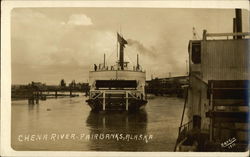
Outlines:
<svg viewBox="0 0 250 157"><path fill-rule="evenodd" d="M114 65L117 32L128 41L125 59L151 76L187 73L188 42L202 31L232 32L234 9L15 8L11 12L12 84L87 82L94 64ZM249 31L242 11L243 32Z"/></svg>

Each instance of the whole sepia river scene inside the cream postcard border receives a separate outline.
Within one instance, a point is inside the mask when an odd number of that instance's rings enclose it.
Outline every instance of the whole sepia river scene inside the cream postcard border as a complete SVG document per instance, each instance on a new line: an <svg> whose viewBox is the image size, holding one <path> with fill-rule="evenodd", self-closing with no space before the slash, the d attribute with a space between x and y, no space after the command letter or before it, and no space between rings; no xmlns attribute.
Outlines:
<svg viewBox="0 0 250 157"><path fill-rule="evenodd" d="M36 6L9 16L14 151L249 150L248 9Z"/></svg>

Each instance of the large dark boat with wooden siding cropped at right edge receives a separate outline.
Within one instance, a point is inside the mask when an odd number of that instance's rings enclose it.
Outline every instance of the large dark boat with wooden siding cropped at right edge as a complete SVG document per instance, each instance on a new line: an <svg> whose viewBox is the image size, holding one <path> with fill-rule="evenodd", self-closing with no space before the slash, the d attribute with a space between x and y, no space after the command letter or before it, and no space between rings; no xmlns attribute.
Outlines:
<svg viewBox="0 0 250 157"><path fill-rule="evenodd" d="M202 40L189 42L188 122L181 121L176 151L249 149L250 33L235 12L233 33L204 30Z"/></svg>

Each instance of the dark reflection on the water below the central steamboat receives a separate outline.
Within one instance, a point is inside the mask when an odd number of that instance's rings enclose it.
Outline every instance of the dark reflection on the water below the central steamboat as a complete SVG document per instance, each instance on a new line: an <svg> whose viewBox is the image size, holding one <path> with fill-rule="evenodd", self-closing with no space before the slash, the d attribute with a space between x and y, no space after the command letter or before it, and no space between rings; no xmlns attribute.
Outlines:
<svg viewBox="0 0 250 157"><path fill-rule="evenodd" d="M86 123L90 136L98 136L97 139L90 140L90 150L139 151L143 150L150 140L145 111L136 113L92 111Z"/></svg>

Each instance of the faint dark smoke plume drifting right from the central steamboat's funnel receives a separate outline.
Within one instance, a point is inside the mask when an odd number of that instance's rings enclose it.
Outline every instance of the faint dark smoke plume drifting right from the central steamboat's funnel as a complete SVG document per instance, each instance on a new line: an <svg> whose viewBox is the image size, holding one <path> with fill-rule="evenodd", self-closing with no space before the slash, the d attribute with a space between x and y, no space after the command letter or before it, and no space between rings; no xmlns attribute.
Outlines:
<svg viewBox="0 0 250 157"><path fill-rule="evenodd" d="M147 48L141 42L133 39L127 39L128 45L135 47L137 51L141 54L155 56L156 50L154 47Z"/></svg>

